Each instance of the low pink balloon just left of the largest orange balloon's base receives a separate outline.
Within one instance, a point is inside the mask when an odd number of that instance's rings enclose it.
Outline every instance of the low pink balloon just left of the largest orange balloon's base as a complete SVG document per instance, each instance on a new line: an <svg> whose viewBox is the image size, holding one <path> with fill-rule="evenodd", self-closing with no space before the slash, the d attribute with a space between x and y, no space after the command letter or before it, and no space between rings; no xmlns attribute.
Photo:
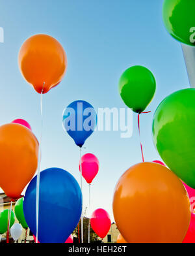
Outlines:
<svg viewBox="0 0 195 256"><path fill-rule="evenodd" d="M107 235L111 226L109 214L107 211L100 208L92 213L90 223L94 232L101 238L104 238Z"/></svg>

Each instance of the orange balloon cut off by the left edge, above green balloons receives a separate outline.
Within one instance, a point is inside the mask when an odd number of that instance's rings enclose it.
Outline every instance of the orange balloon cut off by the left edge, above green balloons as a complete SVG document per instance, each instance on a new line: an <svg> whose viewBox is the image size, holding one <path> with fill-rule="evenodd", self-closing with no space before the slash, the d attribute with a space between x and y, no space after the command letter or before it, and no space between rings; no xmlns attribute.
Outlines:
<svg viewBox="0 0 195 256"><path fill-rule="evenodd" d="M38 165L38 140L23 125L0 126L0 187L5 194L18 199Z"/></svg>

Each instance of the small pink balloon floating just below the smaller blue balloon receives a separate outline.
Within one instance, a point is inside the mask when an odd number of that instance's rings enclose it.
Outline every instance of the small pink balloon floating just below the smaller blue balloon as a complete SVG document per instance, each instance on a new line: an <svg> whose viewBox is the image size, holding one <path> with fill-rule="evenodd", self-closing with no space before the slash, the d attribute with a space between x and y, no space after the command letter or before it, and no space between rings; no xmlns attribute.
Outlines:
<svg viewBox="0 0 195 256"><path fill-rule="evenodd" d="M99 170L99 161L96 155L86 153L81 157L82 176L88 184L91 184ZM81 172L81 163L79 161L79 170Z"/></svg>

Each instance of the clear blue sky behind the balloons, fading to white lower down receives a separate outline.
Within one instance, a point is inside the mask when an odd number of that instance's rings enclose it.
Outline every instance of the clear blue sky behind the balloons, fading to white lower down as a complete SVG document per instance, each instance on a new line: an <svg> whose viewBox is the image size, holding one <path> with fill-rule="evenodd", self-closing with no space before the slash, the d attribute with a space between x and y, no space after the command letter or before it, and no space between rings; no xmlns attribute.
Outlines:
<svg viewBox="0 0 195 256"><path fill-rule="evenodd" d="M68 58L64 80L43 97L44 129L41 168L68 170L80 182L79 148L62 129L62 111L83 99L99 107L124 107L118 93L122 72L144 65L157 80L157 91L140 117L146 161L161 160L153 146L153 113L170 93L188 87L181 44L172 39L162 23L162 0L9 0L0 3L0 124L16 118L27 120L40 136L40 95L21 76L18 52L25 39L46 33L60 41ZM142 161L136 114L133 136L120 131L95 131L83 153L94 153L100 163L92 183L92 208L105 208L112 217L114 186L132 165ZM83 181L84 207L88 185ZM88 214L88 212L86 213ZM113 217L112 217L113 221Z"/></svg>

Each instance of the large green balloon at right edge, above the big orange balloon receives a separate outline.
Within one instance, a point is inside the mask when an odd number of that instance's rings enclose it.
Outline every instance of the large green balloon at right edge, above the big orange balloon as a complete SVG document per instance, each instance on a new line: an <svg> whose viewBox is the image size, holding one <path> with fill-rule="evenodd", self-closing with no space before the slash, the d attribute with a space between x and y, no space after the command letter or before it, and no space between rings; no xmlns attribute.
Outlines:
<svg viewBox="0 0 195 256"><path fill-rule="evenodd" d="M195 89L166 97L155 111L152 131L164 163L195 189Z"/></svg>

